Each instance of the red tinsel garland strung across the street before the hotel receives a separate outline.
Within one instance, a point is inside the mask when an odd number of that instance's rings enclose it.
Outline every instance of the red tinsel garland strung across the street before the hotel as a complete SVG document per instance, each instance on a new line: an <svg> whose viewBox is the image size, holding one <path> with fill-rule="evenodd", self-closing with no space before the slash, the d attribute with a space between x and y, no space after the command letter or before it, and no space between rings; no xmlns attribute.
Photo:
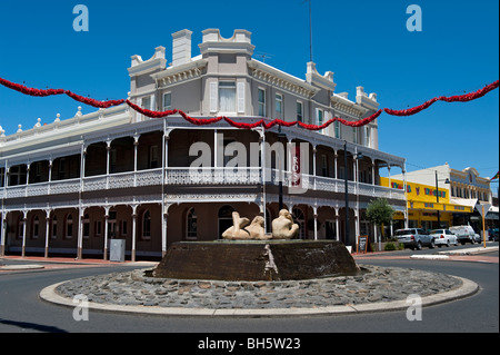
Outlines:
<svg viewBox="0 0 500 355"><path fill-rule="evenodd" d="M24 95L29 95L29 96L33 96L33 97L48 97L48 96L54 96L54 95L67 95L70 98L72 98L73 100L77 100L79 102L82 102L84 105L89 105L96 108L109 108L109 107L113 107L113 106L118 106L118 105L122 105L122 103L127 103L129 107L131 107L134 111L144 115L147 117L150 118L163 118L163 117L168 117L168 116L172 116L172 115L180 115L182 116L187 121L191 122L192 125L196 126L206 126L206 125L212 125L216 124L220 120L226 120L229 125L231 125L232 127L236 128L240 128L240 129L252 129L259 126L262 126L264 129L270 129L271 127L279 125L279 126L283 126L283 127L292 127L292 126L300 126L303 129L308 129L308 130L321 130L327 128L328 126L330 126L331 124L339 121L340 124L344 125L344 126L350 126L350 127L362 127L366 126L368 124L370 124L371 121L376 120L382 112L386 112L388 115L391 116L412 116L416 115L424 109L428 109L429 107L431 107L434 102L437 101L446 101L446 102L468 102L471 100L476 100L478 98L483 97L484 95L487 95L488 92L497 89L499 87L499 80L487 85L486 87L483 87L482 89L474 91L474 92L469 92L469 93L464 93L464 95L457 95L457 96L451 96L451 97L446 97L446 96L440 96L440 97L436 97L432 98L426 102L423 102L422 105L409 108L409 109L404 109L404 110L392 110L392 109L380 109L377 112L374 112L373 115L362 118L360 120L357 121L349 121L339 117L334 117L330 120L328 120L327 122L322 124L322 125L308 125L301 121L293 121L293 122L288 122L281 119L274 119L271 120L269 122L266 122L264 119L260 119L256 122L249 124L249 122L237 122L232 119L230 119L229 117L226 116L220 116L220 117L213 117L213 118L193 118L188 116L186 112L181 111L181 110L167 110L167 111L152 111L152 110L148 110L144 108L139 107L138 105L131 102L130 100L107 100L107 101L99 101L92 98L86 98L82 97L80 95L73 93L70 90L63 90L63 89L47 89L47 90L40 90L40 89L34 89L34 88L28 88L23 85L20 83L16 83L16 82L11 82L9 80L2 79L0 78L0 85L19 91L21 93Z"/></svg>

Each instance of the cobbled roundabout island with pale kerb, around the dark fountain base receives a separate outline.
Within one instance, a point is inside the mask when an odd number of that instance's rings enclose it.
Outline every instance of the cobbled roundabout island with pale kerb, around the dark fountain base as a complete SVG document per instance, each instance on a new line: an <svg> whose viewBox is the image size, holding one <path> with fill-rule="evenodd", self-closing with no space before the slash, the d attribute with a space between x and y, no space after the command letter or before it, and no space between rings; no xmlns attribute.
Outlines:
<svg viewBox="0 0 500 355"><path fill-rule="evenodd" d="M397 267L362 266L357 276L288 282L183 280L150 277L136 269L72 279L40 293L74 307L84 295L92 309L163 315L286 316L407 309L410 295L422 306L474 294L468 279Z"/></svg>

